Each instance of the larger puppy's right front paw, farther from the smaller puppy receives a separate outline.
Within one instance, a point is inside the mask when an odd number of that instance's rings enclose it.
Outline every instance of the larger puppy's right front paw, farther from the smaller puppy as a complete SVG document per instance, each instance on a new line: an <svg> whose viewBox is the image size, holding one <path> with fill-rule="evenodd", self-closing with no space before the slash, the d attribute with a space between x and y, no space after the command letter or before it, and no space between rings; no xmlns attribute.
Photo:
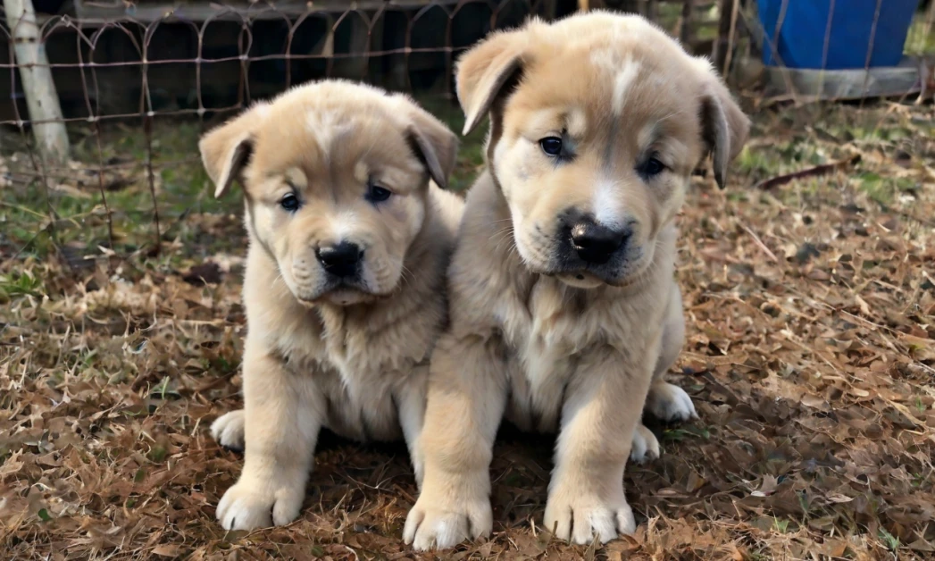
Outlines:
<svg viewBox="0 0 935 561"><path fill-rule="evenodd" d="M622 488L616 498L556 489L545 505L545 529L558 539L583 545L591 543L594 536L606 543L619 535L633 534L637 525Z"/></svg>

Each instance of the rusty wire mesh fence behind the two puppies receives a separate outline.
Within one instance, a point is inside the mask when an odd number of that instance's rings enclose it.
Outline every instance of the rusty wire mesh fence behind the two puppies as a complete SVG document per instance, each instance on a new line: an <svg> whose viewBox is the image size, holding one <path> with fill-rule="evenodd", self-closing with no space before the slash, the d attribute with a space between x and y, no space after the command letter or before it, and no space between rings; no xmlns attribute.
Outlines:
<svg viewBox="0 0 935 561"><path fill-rule="evenodd" d="M797 0L783 0L783 9L790 1ZM876 0L876 17L885 1ZM230 209L212 206L207 198L195 145L205 128L253 100L332 77L410 92L420 100L448 99L447 106L429 108L451 110L458 55L492 30L533 15L553 20L597 7L638 12L688 50L711 56L736 89L794 102L873 95L904 100L912 94L921 98L931 87L924 55L933 44L935 7L923 3L913 20L907 52L917 50L918 58L880 74L870 68L868 51L867 67L856 71L863 78L855 79L853 73L842 78L786 68L770 40L779 36L782 18L766 29L757 4L315 0L166 7L143 0L75 0L52 6L51 14L36 5L35 18L22 17L11 26L7 0L7 20L0 26L0 255L19 257L46 238L66 259L78 240L119 255L158 253L178 238L180 224L192 213ZM24 58L30 46L39 46L48 62ZM768 65L762 64L764 50L772 55ZM27 75L39 67L50 71L58 104L46 119L31 115L38 109L29 103L36 84ZM39 132L53 123L65 123L67 130L61 157L42 150Z"/></svg>

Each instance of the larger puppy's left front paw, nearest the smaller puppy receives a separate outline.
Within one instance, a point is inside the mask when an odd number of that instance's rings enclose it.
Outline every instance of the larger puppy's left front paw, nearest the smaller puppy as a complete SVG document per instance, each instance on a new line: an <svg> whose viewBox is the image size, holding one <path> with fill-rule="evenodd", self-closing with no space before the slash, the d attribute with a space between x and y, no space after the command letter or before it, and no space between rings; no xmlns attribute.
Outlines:
<svg viewBox="0 0 935 561"><path fill-rule="evenodd" d="M416 551L442 550L488 536L493 527L494 512L486 496L442 501L423 491L406 517L403 540Z"/></svg>

